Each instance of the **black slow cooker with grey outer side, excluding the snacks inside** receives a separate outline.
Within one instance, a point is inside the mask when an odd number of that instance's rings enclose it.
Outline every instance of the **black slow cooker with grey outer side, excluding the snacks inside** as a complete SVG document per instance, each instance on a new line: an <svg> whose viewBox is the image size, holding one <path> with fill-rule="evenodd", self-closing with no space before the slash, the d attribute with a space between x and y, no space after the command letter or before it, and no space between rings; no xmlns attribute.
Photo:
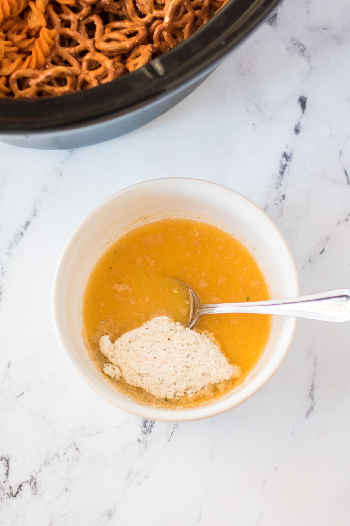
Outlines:
<svg viewBox="0 0 350 526"><path fill-rule="evenodd" d="M108 84L60 97L0 98L0 140L70 149L139 128L189 95L280 0L231 0L174 49Z"/></svg>

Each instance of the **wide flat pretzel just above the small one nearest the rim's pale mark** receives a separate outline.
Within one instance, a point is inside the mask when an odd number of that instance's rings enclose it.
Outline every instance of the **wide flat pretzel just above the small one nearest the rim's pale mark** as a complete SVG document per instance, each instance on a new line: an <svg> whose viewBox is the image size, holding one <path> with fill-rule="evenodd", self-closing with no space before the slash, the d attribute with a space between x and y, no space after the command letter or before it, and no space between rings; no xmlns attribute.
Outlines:
<svg viewBox="0 0 350 526"><path fill-rule="evenodd" d="M126 53L138 44L142 44L146 36L147 29L144 24L127 20L111 22L105 26L104 35L96 40L95 45L100 51Z"/></svg>

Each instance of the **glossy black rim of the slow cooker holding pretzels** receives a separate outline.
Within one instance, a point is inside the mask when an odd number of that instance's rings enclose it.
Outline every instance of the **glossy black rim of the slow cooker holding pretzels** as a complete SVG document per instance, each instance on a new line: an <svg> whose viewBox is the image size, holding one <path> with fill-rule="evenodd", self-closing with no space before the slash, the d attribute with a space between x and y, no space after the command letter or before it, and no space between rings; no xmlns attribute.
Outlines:
<svg viewBox="0 0 350 526"><path fill-rule="evenodd" d="M0 98L0 136L40 135L108 122L136 112L218 65L281 0L231 0L204 27L133 73L78 93L43 99ZM229 22L228 22L229 21Z"/></svg>

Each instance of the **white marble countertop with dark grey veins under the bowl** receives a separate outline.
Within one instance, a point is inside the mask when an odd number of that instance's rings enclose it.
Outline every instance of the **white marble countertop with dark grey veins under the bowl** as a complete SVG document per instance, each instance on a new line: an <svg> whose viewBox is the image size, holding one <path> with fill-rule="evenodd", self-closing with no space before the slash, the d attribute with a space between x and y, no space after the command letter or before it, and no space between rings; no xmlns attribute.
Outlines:
<svg viewBox="0 0 350 526"><path fill-rule="evenodd" d="M75 151L0 144L1 525L350 523L348 325L300 322L256 396L174 425L84 386L50 311L77 222L115 191L167 176L214 180L264 208L303 292L349 287L349 22L347 0L285 0L144 128Z"/></svg>

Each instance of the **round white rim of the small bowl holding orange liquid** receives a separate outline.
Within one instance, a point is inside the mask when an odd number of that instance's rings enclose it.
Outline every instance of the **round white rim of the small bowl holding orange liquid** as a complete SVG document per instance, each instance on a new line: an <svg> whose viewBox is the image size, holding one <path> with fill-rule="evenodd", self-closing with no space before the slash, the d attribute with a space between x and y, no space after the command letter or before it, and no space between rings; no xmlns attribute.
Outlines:
<svg viewBox="0 0 350 526"><path fill-rule="evenodd" d="M269 372L264 375L262 375L262 372L260 373L260 382L250 382L246 386L245 389L240 391L239 393L234 394L234 390L232 391L232 395L225 397L224 399L218 399L213 404L208 404L205 406L199 406L195 408L188 408L188 409L165 409L165 408L156 408L153 406L146 406L141 403L135 402L133 400L130 400L123 395L121 395L121 398L116 400L110 392L106 392L104 389L102 389L102 381L100 379L98 381L92 382L90 378L88 378L88 375L83 372L82 368L79 367L78 362L80 362L80 358L77 359L77 355L74 357L74 353L72 355L71 350L69 350L69 345L67 343L67 339L63 337L63 334L60 329L60 323L59 323L59 295L60 295L60 288L59 288L59 281L61 279L61 274L63 272L63 269L65 267L65 260L69 259L70 249L75 244L75 240L77 237L79 237L80 231L84 228L86 222L92 219L92 217L96 214L99 214L99 212L105 207L108 206L110 203L112 203L115 199L118 199L122 196L125 196L125 194L131 193L136 188L142 188L142 187L151 187L157 184L164 184L168 182L174 182L176 181L176 184L178 183L184 183L184 182L191 182L192 184L199 184L203 186L209 186L209 187L215 187L219 191L229 191L230 194L234 194L236 198L242 200L242 202L245 202L248 207L251 207L252 209L255 209L256 212L262 216L264 216L264 219L267 220L271 227L271 231L274 232L274 237L277 238L280 245L282 245L283 250L289 259L291 269L293 270L292 275L289 276L289 286L292 287L292 289L295 290L295 296L300 295L300 281L299 281L299 275L298 275L298 269L296 268L296 264L292 255L292 252L287 244L287 241L284 239L281 231L275 225L275 223L272 221L272 219L264 212L260 207L258 207L255 203L253 203L250 199L243 196L242 194L239 194L237 191L232 190L231 188L228 188L224 185L220 185L218 183L214 183L213 181L208 181L204 179L195 179L195 178L186 178L186 177L169 177L169 178L159 178L159 179L150 179L146 181L142 181L140 183L136 183L134 185L125 187L116 193L112 194L111 196L103 199L101 203L99 203L96 207L94 207L90 213L88 213L78 224L78 226L73 230L72 234L69 236L65 246L63 247L60 257L57 262L57 266L55 269L54 279L52 282L52 295L51 295L51 306L52 306L52 319L54 322L54 327L56 331L56 336L58 338L58 341L60 343L60 347L65 354L68 362L72 366L72 368L76 371L78 376L88 385L94 392L96 392L100 397L104 398L108 402L112 403L115 407L118 407L119 409L122 409L124 411L127 411L129 413L135 414L136 416L145 418L147 420L158 420L158 421L167 421L167 422L181 422L181 421L194 421L194 420L200 420L203 418L209 418L214 417L217 414L224 413L230 409L233 409L234 407L239 406L243 401L248 400L251 396L253 396L256 392L258 392L266 383L272 378L272 376L277 372L277 370L282 365L282 362L284 361L285 357L287 356L289 349L292 345L295 331L296 331L296 318L284 318L284 338L283 342L280 341L279 345L276 347L282 347L283 352L280 352L279 359L275 361L274 366L269 368ZM274 350L275 354L275 350ZM274 354L272 356L274 356ZM266 368L264 369L266 370ZM103 377L101 375L101 380L103 380ZM251 388L251 384L255 383L256 385L254 388ZM250 389L249 389L250 387ZM123 403L125 402L125 403ZM130 403L132 402L132 403ZM131 405L131 407L129 407ZM125 407L128 406L128 407Z"/></svg>

